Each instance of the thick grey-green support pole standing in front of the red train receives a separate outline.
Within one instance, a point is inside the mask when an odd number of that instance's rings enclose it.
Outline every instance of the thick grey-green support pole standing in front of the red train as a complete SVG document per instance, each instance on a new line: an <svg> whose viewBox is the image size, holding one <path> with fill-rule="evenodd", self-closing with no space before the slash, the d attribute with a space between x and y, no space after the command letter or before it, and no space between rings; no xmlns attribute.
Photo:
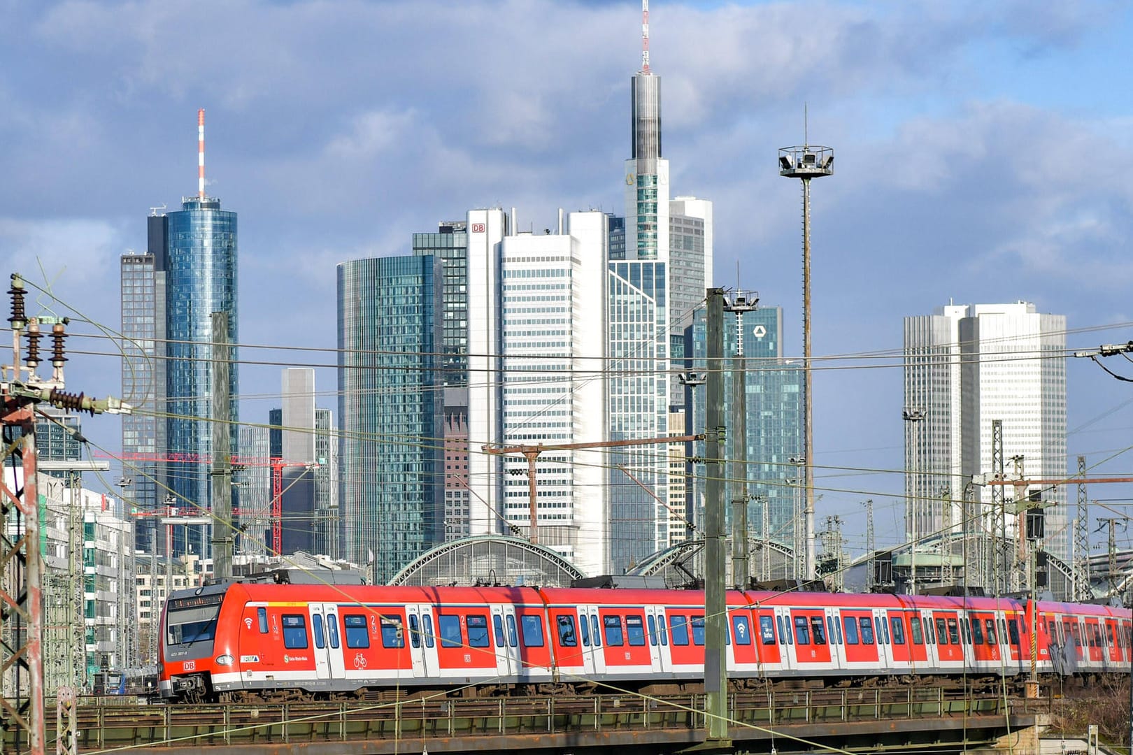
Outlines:
<svg viewBox="0 0 1133 755"><path fill-rule="evenodd" d="M727 740L727 669L724 666L724 495L721 447L725 440L723 402L724 291L708 289L705 428L705 718L708 746Z"/></svg>

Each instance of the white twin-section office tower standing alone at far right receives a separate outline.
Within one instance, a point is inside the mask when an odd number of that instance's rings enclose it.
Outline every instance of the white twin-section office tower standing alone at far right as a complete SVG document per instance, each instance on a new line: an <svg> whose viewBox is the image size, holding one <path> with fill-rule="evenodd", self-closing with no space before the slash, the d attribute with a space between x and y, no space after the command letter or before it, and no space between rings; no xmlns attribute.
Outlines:
<svg viewBox="0 0 1133 755"><path fill-rule="evenodd" d="M974 474L993 470L994 420L1003 422L1007 479L1058 479L1066 462L1066 317L1039 314L1034 304L949 304L932 315L906 317L905 494L918 501L906 512L906 535L926 539L961 531L964 489ZM1021 469L1016 469L1016 460ZM1067 487L1042 489L1045 550L1067 557ZM989 523L990 487L976 487ZM1015 497L1015 488L1003 489ZM913 521L911 514L918 516ZM972 512L974 515L976 512ZM1006 532L1016 533L1015 516ZM970 521L976 532L981 522Z"/></svg>

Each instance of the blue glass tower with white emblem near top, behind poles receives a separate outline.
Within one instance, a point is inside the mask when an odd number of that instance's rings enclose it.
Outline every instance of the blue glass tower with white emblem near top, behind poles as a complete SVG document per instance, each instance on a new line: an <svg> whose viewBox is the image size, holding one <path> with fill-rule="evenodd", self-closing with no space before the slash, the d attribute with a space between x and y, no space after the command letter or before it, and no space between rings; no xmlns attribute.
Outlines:
<svg viewBox="0 0 1133 755"><path fill-rule="evenodd" d="M802 362L783 359L783 310L763 307L736 315L724 315L724 357L735 357L736 343L743 338L747 358L747 480L748 494L755 499L748 504L748 529L752 539L761 537L763 506L767 507L767 537L786 547L795 544L795 507L801 499L798 478L800 467L791 462L802 456ZM693 367L705 369L707 354L705 314L697 314L692 328ZM731 369L724 372L724 421L732 422L734 379ZM702 394L696 401L697 427L705 427ZM697 455L704 455L704 444L698 443ZM702 481L696 480L697 494ZM738 490L729 486L727 500ZM700 496L696 495L699 500Z"/></svg>

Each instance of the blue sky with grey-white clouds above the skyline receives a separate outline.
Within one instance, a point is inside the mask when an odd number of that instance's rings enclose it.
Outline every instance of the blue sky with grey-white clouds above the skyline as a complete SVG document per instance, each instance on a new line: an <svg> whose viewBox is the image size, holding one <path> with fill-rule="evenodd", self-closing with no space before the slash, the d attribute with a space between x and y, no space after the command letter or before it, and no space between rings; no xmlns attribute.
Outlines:
<svg viewBox="0 0 1133 755"><path fill-rule="evenodd" d="M408 254L411 233L469 207L538 228L559 207L622 211L639 14L0 0L0 269L116 328L118 257L144 249L150 207L195 192L205 108L208 191L239 213L240 342L313 350L240 355L330 364L315 350L335 345L337 263ZM949 300L1033 301L1066 315L1071 348L1133 337L1128 3L654 0L650 37L673 191L715 201L715 282L734 286L739 261L743 288L784 306L787 351L799 187L775 157L801 141L803 103L810 140L837 154L813 187L816 355L892 354L903 316ZM110 344L71 349L71 389L119 393L116 359L78 353ZM878 533L898 529L901 374L862 368L894 361L816 377L816 463L889 470L819 471L819 521L842 516L853 547L866 497ZM317 380L337 409L333 371ZM1131 388L1087 360L1068 380L1072 461L1130 446ZM276 367L241 368L244 419L264 421L278 392ZM87 427L117 447L116 421Z"/></svg>

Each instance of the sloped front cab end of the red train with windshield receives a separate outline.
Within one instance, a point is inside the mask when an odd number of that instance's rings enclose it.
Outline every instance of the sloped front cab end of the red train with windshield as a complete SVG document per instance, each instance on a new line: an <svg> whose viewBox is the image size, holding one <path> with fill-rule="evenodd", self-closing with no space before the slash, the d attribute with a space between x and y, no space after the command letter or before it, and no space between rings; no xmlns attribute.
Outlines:
<svg viewBox="0 0 1133 755"><path fill-rule="evenodd" d="M233 595L236 584L215 584L170 593L161 615L157 687L164 700L203 702L215 700L218 686L239 674L236 636L231 626L244 601Z"/></svg>

